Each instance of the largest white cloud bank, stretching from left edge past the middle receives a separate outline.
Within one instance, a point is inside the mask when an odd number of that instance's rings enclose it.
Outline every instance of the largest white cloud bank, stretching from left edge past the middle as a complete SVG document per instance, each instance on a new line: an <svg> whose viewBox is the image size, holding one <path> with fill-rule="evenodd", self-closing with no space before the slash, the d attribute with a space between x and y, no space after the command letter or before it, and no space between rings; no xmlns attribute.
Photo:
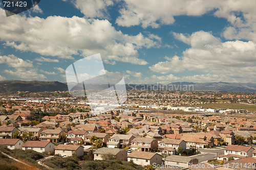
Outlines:
<svg viewBox="0 0 256 170"><path fill-rule="evenodd" d="M1 15L5 15L3 9L0 9ZM147 62L138 59L138 50L159 47L159 42L141 33L132 36L117 31L108 20L77 16L2 17L0 30L0 39L6 42L4 45L66 59L73 59L73 55L85 57L100 53L103 60L144 65Z"/></svg>

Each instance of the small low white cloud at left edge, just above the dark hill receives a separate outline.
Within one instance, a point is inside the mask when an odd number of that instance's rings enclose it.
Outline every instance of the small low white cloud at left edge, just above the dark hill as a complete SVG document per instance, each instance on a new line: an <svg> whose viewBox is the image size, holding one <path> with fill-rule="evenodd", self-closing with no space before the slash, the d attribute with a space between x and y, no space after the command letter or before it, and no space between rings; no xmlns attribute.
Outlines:
<svg viewBox="0 0 256 170"><path fill-rule="evenodd" d="M0 64L7 64L15 70L4 70L7 74L21 78L23 80L45 80L46 77L37 73L30 60L24 61L14 55L0 56Z"/></svg>

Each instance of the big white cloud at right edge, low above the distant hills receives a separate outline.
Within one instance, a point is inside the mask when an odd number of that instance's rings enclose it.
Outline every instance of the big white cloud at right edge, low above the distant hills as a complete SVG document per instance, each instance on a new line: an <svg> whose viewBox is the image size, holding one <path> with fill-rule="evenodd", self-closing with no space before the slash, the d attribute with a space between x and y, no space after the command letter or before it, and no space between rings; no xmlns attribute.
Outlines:
<svg viewBox="0 0 256 170"><path fill-rule="evenodd" d="M202 75L183 77L183 81L256 82L256 43L253 41L221 42L208 32L191 35L174 33L189 45L181 57L165 57L150 69L161 74L184 71L203 72ZM186 80L185 80L186 79Z"/></svg>

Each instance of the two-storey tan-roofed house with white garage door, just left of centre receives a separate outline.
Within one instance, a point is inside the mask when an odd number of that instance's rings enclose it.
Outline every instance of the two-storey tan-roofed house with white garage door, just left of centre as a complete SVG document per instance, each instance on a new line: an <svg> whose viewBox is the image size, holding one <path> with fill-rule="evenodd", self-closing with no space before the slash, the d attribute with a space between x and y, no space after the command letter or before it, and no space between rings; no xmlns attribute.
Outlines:
<svg viewBox="0 0 256 170"><path fill-rule="evenodd" d="M129 147L134 138L134 135L114 134L106 144L108 148Z"/></svg>

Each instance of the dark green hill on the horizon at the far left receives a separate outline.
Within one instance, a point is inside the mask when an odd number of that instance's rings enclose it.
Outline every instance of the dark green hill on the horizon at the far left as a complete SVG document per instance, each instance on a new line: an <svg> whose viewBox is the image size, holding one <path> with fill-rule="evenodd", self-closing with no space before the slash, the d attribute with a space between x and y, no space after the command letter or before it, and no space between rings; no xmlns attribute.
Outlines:
<svg viewBox="0 0 256 170"><path fill-rule="evenodd" d="M19 81L5 80L0 81L0 93L16 92L16 91L66 91L68 86L60 82L44 82L44 81Z"/></svg>

